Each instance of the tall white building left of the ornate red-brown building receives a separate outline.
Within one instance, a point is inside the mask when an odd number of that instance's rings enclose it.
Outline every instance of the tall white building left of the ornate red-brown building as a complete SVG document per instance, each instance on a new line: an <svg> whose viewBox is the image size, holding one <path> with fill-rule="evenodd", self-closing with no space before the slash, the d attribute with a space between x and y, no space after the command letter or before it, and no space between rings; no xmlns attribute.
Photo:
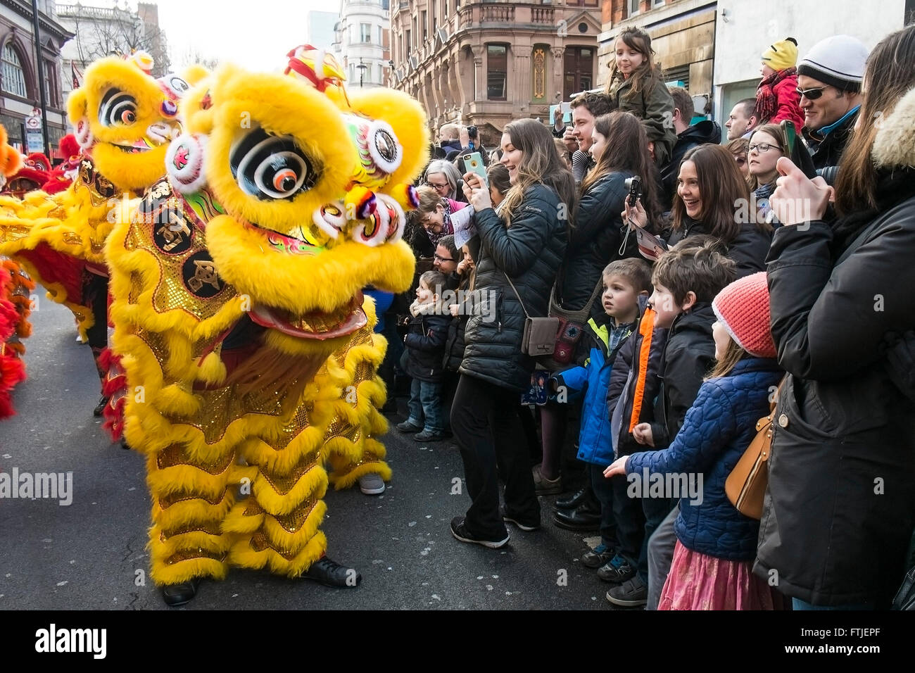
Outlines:
<svg viewBox="0 0 915 673"><path fill-rule="evenodd" d="M388 0L341 0L334 51L350 89L387 86L390 16Z"/></svg>

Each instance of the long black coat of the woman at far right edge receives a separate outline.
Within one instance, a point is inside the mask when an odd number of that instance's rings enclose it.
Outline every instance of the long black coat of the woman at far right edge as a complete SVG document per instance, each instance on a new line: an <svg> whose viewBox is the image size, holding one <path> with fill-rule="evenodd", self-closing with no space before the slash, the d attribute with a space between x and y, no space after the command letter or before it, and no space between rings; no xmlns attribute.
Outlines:
<svg viewBox="0 0 915 673"><path fill-rule="evenodd" d="M780 227L772 241L772 336L791 376L754 572L776 570L780 592L818 605L888 607L915 525L915 404L879 347L915 329L911 187L845 260L833 261L822 221Z"/></svg>

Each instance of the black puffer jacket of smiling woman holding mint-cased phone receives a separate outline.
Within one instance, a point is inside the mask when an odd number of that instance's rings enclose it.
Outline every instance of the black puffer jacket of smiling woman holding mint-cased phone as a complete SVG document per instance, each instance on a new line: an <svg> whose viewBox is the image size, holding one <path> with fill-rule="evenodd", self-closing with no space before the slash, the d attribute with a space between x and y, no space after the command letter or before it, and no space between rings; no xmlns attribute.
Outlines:
<svg viewBox="0 0 915 673"><path fill-rule="evenodd" d="M533 358L521 351L524 310L505 274L527 312L545 316L565 254L565 220L558 215L559 197L541 184L525 190L508 229L491 208L477 213L481 247L474 289L489 305L467 321L461 374L519 392L531 385Z"/></svg>

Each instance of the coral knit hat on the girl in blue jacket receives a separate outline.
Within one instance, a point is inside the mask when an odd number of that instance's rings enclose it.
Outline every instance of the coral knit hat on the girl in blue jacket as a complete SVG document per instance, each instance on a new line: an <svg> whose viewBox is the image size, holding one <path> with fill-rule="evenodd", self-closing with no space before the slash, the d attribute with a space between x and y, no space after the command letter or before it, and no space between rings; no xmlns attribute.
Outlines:
<svg viewBox="0 0 915 673"><path fill-rule="evenodd" d="M766 272L742 277L721 290L712 309L731 339L750 355L774 358Z"/></svg>

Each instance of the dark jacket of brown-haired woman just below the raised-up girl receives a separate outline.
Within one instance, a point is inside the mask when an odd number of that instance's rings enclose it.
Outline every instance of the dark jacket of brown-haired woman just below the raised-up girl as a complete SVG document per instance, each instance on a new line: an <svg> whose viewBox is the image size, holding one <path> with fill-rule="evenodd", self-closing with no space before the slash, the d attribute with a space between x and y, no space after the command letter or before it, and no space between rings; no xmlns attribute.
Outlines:
<svg viewBox="0 0 915 673"><path fill-rule="evenodd" d="M566 310L585 308L600 274L611 260L619 257L625 181L629 171L608 173L581 195L575 227L569 238L562 269L559 272L558 299ZM604 312L598 296L591 316Z"/></svg>

